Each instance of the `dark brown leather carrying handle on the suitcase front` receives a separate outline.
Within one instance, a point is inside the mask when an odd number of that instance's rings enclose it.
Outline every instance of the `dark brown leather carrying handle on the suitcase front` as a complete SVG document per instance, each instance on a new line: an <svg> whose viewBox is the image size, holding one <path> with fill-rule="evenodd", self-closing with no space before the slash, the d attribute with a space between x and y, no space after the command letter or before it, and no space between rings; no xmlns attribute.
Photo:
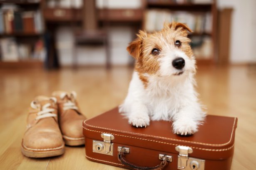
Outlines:
<svg viewBox="0 0 256 170"><path fill-rule="evenodd" d="M125 154L123 152L123 149L124 149L124 146L119 150L117 157L118 157L118 160L123 165L126 165L129 169L132 169L132 170L162 170L162 169L164 169L164 167L166 165L168 165L166 155L164 155L163 161L157 166L147 167L147 166L134 165L133 163L130 163L129 161L127 161L125 159Z"/></svg>

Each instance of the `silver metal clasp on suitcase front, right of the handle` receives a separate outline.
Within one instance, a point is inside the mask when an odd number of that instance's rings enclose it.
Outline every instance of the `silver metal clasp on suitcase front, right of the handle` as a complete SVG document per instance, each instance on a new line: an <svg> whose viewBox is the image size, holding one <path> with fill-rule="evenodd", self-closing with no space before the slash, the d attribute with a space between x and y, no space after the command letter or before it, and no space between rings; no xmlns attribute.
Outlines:
<svg viewBox="0 0 256 170"><path fill-rule="evenodd" d="M189 157L189 153L193 153L192 148L176 146L175 150L179 152L177 167L179 170L204 170L205 160Z"/></svg>

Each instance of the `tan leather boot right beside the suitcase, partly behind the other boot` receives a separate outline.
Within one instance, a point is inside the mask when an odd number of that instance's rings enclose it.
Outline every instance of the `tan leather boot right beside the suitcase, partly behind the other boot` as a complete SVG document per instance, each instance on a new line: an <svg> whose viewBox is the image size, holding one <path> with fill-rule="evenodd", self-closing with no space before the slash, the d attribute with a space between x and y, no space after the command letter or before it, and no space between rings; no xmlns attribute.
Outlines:
<svg viewBox="0 0 256 170"><path fill-rule="evenodd" d="M75 92L55 91L57 98L59 124L66 145L79 146L85 144L82 132L82 122L85 120L78 108Z"/></svg>

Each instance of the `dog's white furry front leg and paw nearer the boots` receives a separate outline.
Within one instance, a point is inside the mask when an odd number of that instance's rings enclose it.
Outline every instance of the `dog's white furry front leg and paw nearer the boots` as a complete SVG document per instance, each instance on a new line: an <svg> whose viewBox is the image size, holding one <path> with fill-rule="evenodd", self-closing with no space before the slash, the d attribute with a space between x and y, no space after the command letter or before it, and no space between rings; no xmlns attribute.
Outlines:
<svg viewBox="0 0 256 170"><path fill-rule="evenodd" d="M149 111L146 105L134 102L128 115L129 124L136 127L147 127L149 125Z"/></svg>

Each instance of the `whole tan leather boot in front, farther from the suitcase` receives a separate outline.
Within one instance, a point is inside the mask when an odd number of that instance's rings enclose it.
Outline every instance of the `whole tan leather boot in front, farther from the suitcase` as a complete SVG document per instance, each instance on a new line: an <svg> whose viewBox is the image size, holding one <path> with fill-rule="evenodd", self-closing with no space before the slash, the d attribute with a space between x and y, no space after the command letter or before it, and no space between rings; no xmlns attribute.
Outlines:
<svg viewBox="0 0 256 170"><path fill-rule="evenodd" d="M37 96L30 104L27 130L22 139L23 155L44 158L62 155L65 143L58 125L57 99Z"/></svg>

